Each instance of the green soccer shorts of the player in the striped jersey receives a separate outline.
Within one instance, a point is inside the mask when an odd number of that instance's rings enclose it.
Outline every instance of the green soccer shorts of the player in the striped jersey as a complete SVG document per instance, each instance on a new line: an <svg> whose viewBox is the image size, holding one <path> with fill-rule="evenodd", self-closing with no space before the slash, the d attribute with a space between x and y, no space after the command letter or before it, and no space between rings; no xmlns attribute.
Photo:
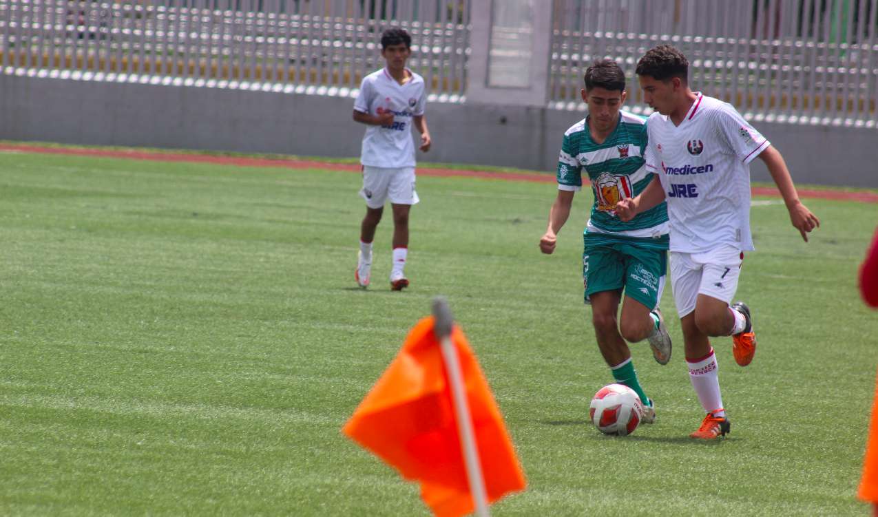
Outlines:
<svg viewBox="0 0 878 517"><path fill-rule="evenodd" d="M601 291L624 289L625 296L654 309L665 289L667 252L637 244L585 245L582 252L582 282L585 302Z"/></svg>

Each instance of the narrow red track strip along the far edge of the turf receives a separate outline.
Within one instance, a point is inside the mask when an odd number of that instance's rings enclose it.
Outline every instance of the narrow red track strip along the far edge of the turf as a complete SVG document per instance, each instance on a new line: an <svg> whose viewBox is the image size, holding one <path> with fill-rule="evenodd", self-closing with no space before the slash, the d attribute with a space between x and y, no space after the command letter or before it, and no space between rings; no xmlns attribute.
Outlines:
<svg viewBox="0 0 878 517"><path fill-rule="evenodd" d="M238 165L241 167L280 167L285 169L329 169L359 172L360 166L350 163L318 162L306 160L271 160L268 158L248 158L242 156L215 156L210 154L165 153L159 151L117 151L109 149L90 149L78 147L40 147L25 144L0 144L0 151L20 153L65 154L76 156L103 156L108 158L129 158L133 160L151 160L154 162L191 162L215 163L217 165ZM418 169L420 176L466 176L487 179L502 179L519 182L555 183L555 176L548 174L490 172L486 170L464 169ZM878 194L874 192L847 192L844 190L812 190L798 189L800 197L817 199L838 199L843 201L860 201L861 203L878 203ZM753 187L753 194L758 196L780 197L774 188Z"/></svg>

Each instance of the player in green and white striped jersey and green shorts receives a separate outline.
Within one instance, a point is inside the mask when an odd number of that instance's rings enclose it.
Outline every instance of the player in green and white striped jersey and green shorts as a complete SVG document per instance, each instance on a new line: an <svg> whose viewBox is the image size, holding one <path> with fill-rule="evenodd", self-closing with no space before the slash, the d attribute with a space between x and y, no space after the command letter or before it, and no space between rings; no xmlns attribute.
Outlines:
<svg viewBox="0 0 878 517"><path fill-rule="evenodd" d="M564 134L558 158L558 196L540 250L555 251L557 234L570 215L583 172L594 192L591 218L583 234L582 279L585 302L592 305L598 348L615 382L637 392L644 422L655 421L655 405L641 386L625 342L648 339L660 364L671 359L671 338L659 312L665 285L668 223L665 205L623 222L616 217L620 199L636 196L652 180L645 168L644 118L621 110L625 75L611 60L595 61L586 71L582 100L588 116ZM623 290L622 318L617 322Z"/></svg>

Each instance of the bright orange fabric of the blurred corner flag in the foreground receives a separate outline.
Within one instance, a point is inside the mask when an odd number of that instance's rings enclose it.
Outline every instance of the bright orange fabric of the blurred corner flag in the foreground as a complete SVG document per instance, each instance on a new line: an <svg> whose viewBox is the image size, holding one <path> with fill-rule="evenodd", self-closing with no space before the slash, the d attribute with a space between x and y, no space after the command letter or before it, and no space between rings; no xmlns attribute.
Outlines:
<svg viewBox="0 0 878 517"><path fill-rule="evenodd" d="M424 318L342 428L352 440L421 483L421 499L439 517L475 509L442 351ZM451 340L464 377L488 503L525 487L524 473L479 362L464 333Z"/></svg>

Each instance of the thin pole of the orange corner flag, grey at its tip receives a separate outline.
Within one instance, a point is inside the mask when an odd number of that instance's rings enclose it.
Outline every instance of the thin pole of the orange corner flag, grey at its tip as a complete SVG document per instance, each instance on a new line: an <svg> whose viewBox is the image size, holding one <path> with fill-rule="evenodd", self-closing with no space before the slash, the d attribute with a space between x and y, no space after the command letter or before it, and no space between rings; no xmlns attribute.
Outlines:
<svg viewBox="0 0 878 517"><path fill-rule="evenodd" d="M464 460L466 461L466 477L470 481L472 501L476 506L476 514L479 517L488 517L488 502L485 491L485 478L482 476L482 466L479 463L479 453L476 449L476 435L472 431L472 417L470 406L466 402L464 390L464 378L460 373L460 362L457 359L457 348L451 342L451 309L445 298L433 298L433 316L435 318L435 334L439 338L442 347L445 369L451 381L451 394L454 398L454 410L457 415L457 433L464 448Z"/></svg>

